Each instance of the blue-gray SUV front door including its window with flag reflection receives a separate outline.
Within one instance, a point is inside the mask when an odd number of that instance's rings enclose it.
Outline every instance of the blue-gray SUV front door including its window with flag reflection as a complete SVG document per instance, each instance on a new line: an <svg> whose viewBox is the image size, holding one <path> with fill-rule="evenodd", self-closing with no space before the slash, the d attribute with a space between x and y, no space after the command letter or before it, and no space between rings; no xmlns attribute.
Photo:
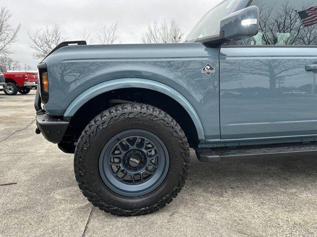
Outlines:
<svg viewBox="0 0 317 237"><path fill-rule="evenodd" d="M220 49L221 140L317 134L317 0L253 0L260 32ZM307 71L308 70L308 71Z"/></svg>

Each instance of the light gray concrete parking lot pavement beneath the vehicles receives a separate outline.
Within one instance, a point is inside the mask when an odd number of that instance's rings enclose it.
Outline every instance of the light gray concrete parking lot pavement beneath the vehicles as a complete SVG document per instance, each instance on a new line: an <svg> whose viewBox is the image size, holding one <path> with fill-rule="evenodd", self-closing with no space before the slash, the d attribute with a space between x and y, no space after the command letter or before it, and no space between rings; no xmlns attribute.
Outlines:
<svg viewBox="0 0 317 237"><path fill-rule="evenodd" d="M93 207L73 156L35 134L35 91L0 92L0 236L317 236L316 157L202 163L192 153L180 195L158 212Z"/></svg>

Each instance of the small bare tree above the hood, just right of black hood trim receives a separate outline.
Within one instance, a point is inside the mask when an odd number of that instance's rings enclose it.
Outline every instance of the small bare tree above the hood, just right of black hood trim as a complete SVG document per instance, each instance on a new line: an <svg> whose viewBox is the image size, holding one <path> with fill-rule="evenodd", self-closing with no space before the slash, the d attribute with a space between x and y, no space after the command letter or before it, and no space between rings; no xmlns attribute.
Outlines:
<svg viewBox="0 0 317 237"><path fill-rule="evenodd" d="M110 27L105 25L100 30L100 33L95 36L95 38L100 44L114 44L116 42L120 43L117 41L119 40L118 23L113 22Z"/></svg>

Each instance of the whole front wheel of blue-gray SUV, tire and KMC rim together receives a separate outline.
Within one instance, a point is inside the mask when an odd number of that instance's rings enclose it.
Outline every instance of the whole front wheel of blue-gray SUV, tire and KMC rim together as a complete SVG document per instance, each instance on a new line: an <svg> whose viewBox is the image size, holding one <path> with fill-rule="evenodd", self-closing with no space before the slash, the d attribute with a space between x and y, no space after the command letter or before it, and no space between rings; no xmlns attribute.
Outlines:
<svg viewBox="0 0 317 237"><path fill-rule="evenodd" d="M141 215L172 201L190 163L183 130L165 112L145 104L112 107L80 136L74 158L83 194L101 210Z"/></svg>

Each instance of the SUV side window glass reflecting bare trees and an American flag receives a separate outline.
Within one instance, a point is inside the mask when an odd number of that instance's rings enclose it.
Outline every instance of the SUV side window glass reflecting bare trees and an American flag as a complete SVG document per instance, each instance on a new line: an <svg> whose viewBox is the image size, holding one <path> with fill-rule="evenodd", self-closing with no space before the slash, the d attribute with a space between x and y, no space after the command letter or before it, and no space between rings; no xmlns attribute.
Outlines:
<svg viewBox="0 0 317 237"><path fill-rule="evenodd" d="M231 45L317 45L317 0L253 0L259 34Z"/></svg>

